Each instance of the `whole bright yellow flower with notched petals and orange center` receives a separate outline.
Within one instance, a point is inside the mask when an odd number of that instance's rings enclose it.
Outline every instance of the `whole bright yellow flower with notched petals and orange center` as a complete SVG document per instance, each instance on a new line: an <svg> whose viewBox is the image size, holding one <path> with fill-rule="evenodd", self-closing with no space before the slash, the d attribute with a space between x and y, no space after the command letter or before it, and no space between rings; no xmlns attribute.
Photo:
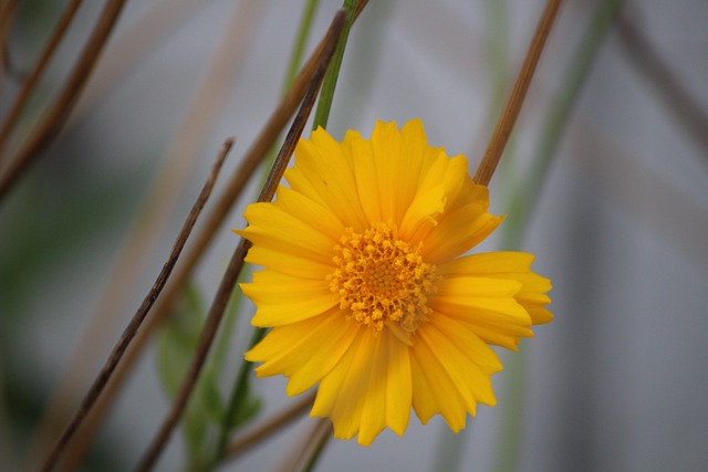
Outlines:
<svg viewBox="0 0 708 472"><path fill-rule="evenodd" d="M467 159L427 144L423 124L377 123L371 140L317 129L301 139L272 203L251 204L239 234L266 268L242 284L253 325L272 328L246 354L288 395L319 384L312 416L368 445L403 434L410 408L452 431L493 406L490 345L517 349L550 322L550 281L521 252L461 255L502 218Z"/></svg>

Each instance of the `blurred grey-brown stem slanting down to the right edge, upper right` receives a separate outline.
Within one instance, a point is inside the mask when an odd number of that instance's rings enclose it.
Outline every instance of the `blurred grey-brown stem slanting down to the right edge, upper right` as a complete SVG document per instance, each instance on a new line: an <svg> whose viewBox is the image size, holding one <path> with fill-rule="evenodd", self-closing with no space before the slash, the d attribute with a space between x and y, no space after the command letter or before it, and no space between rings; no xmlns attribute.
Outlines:
<svg viewBox="0 0 708 472"><path fill-rule="evenodd" d="M691 139L708 153L708 114L698 105L699 101L690 96L632 18L620 14L617 32L629 64L646 76L664 106L671 111Z"/></svg>

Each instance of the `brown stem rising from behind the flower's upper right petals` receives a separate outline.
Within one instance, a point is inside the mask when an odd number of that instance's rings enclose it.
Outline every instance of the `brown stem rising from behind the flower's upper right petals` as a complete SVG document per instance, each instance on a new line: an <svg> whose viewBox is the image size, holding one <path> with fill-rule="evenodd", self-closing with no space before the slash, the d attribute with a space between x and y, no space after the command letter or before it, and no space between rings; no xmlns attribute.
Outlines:
<svg viewBox="0 0 708 472"><path fill-rule="evenodd" d="M519 72L519 76L517 77L517 82L511 91L509 101L507 102L504 111L499 118L499 123L497 123L497 128L489 141L485 157L477 167L477 172L473 178L476 183L481 183L483 186L489 185L491 176L494 174L494 169L497 169L499 159L501 159L501 155L503 154L507 141L509 140L509 135L511 135L513 125L517 123L521 105L523 104L523 99L529 90L529 84L533 77L535 66L539 63L545 40L551 32L551 27L553 25L553 20L555 20L560 6L561 0L549 0L545 9L543 10L543 15L539 20L535 34L533 35L533 40L531 41L531 45L529 46L529 51L527 52L527 56L523 61L523 65L521 66L521 72Z"/></svg>

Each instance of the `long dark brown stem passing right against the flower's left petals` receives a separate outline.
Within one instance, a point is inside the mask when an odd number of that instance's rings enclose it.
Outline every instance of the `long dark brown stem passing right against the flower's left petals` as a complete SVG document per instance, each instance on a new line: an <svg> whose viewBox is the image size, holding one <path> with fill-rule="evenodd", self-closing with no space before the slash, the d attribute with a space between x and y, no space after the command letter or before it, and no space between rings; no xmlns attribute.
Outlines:
<svg viewBox="0 0 708 472"><path fill-rule="evenodd" d="M327 32L325 49L322 51L322 55L320 56L317 70L313 76L312 84L310 85L310 88L305 94L300 112L295 116L290 132L285 137L285 141L283 143L278 158L275 159L275 164L273 165L271 174L266 181L266 186L263 187L263 190L259 196L259 201L270 201L275 193L275 188L278 187L278 183L280 182L283 172L285 171L285 167L290 161L290 156L295 148L298 139L300 139L300 136L302 135L302 130L304 129L306 119L310 116L312 106L314 105L316 93L320 90L322 78L324 77L324 73L326 72L330 60L332 59L332 53L334 52L336 41L342 32L345 14L340 11L332 21L332 25L330 27L330 30ZM179 394L177 395L169 415L167 416L160 430L155 437L153 443L148 448L145 457L140 461L140 464L138 465L139 471L148 471L154 466L159 454L165 448L165 444L169 440L175 426L181 417L187 401L189 400L189 396L191 395L191 391L194 390L194 387L197 382L201 367L204 366L207 355L209 354L209 348L219 328L219 324L221 322L221 318L223 317L223 311L226 310L226 305L231 296L231 293L233 292L236 281L243 266L243 259L246 258L246 253L248 252L250 247L251 243L248 240L241 239L241 242L236 248L236 251L231 256L229 266L227 268L223 279L219 284L219 289L217 290L217 293L215 295L211 308L209 310L209 314L207 315L207 319L199 337L197 350L192 358L187 378L185 379Z"/></svg>

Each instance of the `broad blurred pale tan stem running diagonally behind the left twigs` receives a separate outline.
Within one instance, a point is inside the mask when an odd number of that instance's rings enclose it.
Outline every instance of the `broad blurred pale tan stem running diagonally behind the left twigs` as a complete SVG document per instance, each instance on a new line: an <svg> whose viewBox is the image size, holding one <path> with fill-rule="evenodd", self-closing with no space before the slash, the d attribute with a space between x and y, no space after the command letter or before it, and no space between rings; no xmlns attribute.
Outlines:
<svg viewBox="0 0 708 472"><path fill-rule="evenodd" d="M169 2L171 4L160 3L163 8L170 10L165 12L164 17L166 18L174 14L171 10L179 10L177 8L179 2L175 0L169 0ZM233 86L235 76L242 67L242 59L246 56L248 44L253 36L258 24L258 14L261 10L262 2L259 0L249 0L235 4L230 13L231 19L223 33L220 34L219 45L214 53L214 57L209 61L209 67L205 72L194 97L190 99L183 123L165 150L165 158L160 164L160 168L154 172L155 178L149 186L148 195L135 217L132 228L124 238L123 248L116 258L117 263L108 275L108 282L102 291L96 308L94 308L90 322L83 327L83 332L79 336L71 358L66 363L67 367L64 374L60 376L56 387L48 397L43 418L35 429L33 447L28 451L28 462L31 463L32 460L37 460L37 451L43 451L48 448L45 444L46 438L53 440L59 432L58 428L63 427L65 421L63 411L73 408L72 406L77 397L75 391L77 386L88 385L90 376L93 376L93 371L96 368L96 358L101 358L100 349L112 343L110 336L119 318L117 315L124 313L126 300L129 300L139 289L139 275L145 271L145 265L149 260L148 255L155 251L157 242L160 241L167 221L174 213L173 207L184 191L185 181L194 174L194 167L202 154L202 148L211 134L214 123L222 112L226 103L223 96ZM157 12L150 10L148 13L153 21L156 22ZM140 20L138 23L142 21L145 20ZM163 28L159 24L157 27L158 30ZM139 28L137 30L133 28L133 30L135 30L133 31L134 36L144 36ZM136 44L138 43L133 43L134 46ZM114 61L114 57L108 54L115 48L115 43L112 42L112 45L106 49L106 57L111 57L111 61L107 61L111 63L111 66L107 67L108 70L113 70ZM133 49L137 50L139 48ZM101 67L96 70L96 73L100 70ZM95 76L92 77L92 82L94 80ZM90 88L91 84L86 92ZM77 104L79 107L81 107L81 101ZM187 252L185 252L185 255ZM180 265L181 260L184 260L184 256L180 258ZM179 266L176 268L171 279L177 275L178 271ZM164 298L166 292L168 292L167 289L160 300ZM154 313L158 306L159 304L152 312ZM145 325L147 324L146 322ZM140 331L143 329L145 329L145 326ZM122 365L131 358L128 356ZM84 438L81 441L84 441ZM72 449L72 454L74 454L74 451Z"/></svg>

